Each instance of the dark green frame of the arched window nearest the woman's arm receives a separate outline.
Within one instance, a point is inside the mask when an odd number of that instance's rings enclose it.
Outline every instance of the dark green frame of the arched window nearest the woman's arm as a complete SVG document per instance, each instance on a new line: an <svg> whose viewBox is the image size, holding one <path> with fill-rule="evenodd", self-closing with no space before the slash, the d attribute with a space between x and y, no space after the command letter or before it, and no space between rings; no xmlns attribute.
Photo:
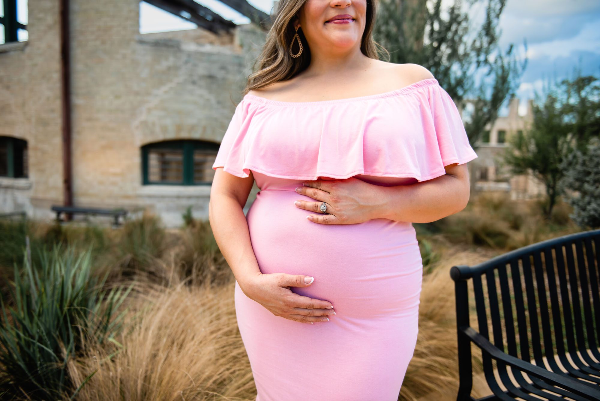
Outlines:
<svg viewBox="0 0 600 401"><path fill-rule="evenodd" d="M194 151L202 150L206 151L212 156L210 164L214 163L214 158L217 156L217 152L220 144L216 142L208 142L205 140L196 139L174 139L164 140L161 142L148 143L142 146L142 184L143 185L211 185L212 175L209 179L200 182L194 182ZM153 149L177 149L182 151L182 179L181 181L150 181L149 180L149 160L148 154ZM210 159L209 159L210 160Z"/></svg>

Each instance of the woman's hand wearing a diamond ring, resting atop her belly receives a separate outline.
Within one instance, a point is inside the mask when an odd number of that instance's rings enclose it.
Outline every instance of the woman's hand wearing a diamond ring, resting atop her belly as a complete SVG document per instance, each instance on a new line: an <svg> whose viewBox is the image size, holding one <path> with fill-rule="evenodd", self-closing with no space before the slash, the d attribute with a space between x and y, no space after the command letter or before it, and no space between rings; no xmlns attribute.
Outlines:
<svg viewBox="0 0 600 401"><path fill-rule="evenodd" d="M315 202L296 200L296 207L319 214L310 214L308 220L320 224L356 224L376 219L377 185L350 177L326 181L305 181L296 192L316 199ZM325 202L326 213L320 211Z"/></svg>

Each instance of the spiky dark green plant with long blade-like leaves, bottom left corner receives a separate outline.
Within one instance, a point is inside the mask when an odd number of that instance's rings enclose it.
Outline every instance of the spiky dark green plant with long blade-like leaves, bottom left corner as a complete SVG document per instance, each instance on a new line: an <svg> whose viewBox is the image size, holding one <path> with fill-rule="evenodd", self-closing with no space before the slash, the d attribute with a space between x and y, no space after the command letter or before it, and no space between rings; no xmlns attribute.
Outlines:
<svg viewBox="0 0 600 401"><path fill-rule="evenodd" d="M27 243L23 270L14 264L14 306L5 306L0 297L3 397L64 399L76 393L79 389L70 381L67 366L82 352L85 339L101 345L121 329L125 312L115 316L116 310L131 287L115 287L106 294L106 276L92 276L91 250L76 255L72 247L61 252L61 246L52 252L37 249L41 263L34 266Z"/></svg>

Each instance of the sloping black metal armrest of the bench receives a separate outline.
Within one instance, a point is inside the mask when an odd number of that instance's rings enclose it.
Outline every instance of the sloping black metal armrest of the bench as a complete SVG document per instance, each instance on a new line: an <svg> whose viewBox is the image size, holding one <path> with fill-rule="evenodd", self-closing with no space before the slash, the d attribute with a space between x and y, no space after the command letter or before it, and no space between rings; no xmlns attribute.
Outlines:
<svg viewBox="0 0 600 401"><path fill-rule="evenodd" d="M463 333L469 337L469 339L475 343L476 346L481 348L482 351L489 354L492 358L502 361L503 363L522 370L528 375L535 376L536 378L542 379L545 382L550 382L559 387L565 388L565 390L571 391L581 397L586 397L590 400L600 400L600 389L596 390L589 385L583 384L577 379L569 378L568 376L559 375L559 373L551 372L543 367L531 364L519 358L515 358L512 355L506 354L505 352L498 349L488 339L479 334L472 327L466 327Z"/></svg>

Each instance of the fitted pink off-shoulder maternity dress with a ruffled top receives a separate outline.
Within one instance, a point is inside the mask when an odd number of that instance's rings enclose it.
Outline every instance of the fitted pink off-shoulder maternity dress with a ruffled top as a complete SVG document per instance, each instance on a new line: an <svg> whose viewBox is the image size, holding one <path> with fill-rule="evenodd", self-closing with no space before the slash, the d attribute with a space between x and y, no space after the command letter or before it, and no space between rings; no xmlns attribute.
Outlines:
<svg viewBox="0 0 600 401"><path fill-rule="evenodd" d="M239 331L256 401L395 401L418 334L421 253L410 222L322 225L294 205L295 188L355 177L408 185L477 155L457 107L436 79L341 100L287 102L247 94L213 169L252 171L247 213L262 273L313 276L297 294L332 303L328 322L275 316L235 284Z"/></svg>

